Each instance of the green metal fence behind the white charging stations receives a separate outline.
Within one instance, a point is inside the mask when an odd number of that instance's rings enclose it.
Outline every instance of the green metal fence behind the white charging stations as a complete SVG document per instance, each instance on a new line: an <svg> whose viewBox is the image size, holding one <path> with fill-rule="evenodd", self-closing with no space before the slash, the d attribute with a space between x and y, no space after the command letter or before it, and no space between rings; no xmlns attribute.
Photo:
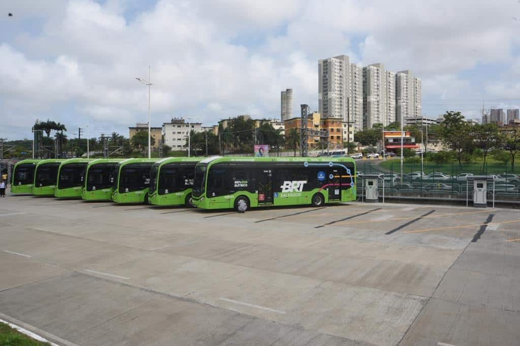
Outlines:
<svg viewBox="0 0 520 346"><path fill-rule="evenodd" d="M363 174L381 174L378 184L379 196L471 200L473 183L468 183L467 177L493 175L493 183L487 188L488 201L520 202L520 175L508 171L508 167L500 167L498 170L486 165L479 169L474 164L459 166L458 163L451 164L448 170L446 167L447 165L425 164L421 171L421 164L407 164L401 177L398 161L384 172L373 162L359 162L358 195L364 193Z"/></svg>

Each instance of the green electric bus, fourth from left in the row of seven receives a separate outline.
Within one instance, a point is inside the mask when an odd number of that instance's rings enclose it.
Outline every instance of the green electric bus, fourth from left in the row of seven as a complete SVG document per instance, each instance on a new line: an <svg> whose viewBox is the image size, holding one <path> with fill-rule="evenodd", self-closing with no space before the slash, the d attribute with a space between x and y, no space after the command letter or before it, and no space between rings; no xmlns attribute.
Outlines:
<svg viewBox="0 0 520 346"><path fill-rule="evenodd" d="M110 201L118 163L123 159L96 159L85 170L81 198L86 201Z"/></svg>

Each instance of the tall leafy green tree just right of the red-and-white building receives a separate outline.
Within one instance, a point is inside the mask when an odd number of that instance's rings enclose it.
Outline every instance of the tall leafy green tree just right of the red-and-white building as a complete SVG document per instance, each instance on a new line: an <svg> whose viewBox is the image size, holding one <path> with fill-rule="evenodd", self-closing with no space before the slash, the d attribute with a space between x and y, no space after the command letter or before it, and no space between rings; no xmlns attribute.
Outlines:
<svg viewBox="0 0 520 346"><path fill-rule="evenodd" d="M444 121L440 124L439 135L454 151L459 167L462 168L462 159L465 153L473 148L473 138L470 133L470 126L464 121L464 116L460 112L448 111L444 115Z"/></svg>

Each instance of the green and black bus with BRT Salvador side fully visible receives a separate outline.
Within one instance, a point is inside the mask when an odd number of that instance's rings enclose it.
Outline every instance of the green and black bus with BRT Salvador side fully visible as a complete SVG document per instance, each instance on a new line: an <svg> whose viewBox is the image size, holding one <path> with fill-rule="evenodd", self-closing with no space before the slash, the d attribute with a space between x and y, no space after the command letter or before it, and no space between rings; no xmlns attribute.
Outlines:
<svg viewBox="0 0 520 346"><path fill-rule="evenodd" d="M354 201L356 163L346 157L211 157L197 164L192 198L203 209Z"/></svg>

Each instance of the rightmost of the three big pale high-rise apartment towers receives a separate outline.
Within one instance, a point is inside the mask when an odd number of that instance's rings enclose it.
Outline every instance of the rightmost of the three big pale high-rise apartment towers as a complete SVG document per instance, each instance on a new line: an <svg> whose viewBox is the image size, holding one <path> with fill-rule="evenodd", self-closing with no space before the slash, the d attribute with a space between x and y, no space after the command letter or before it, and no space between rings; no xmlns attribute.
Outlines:
<svg viewBox="0 0 520 346"><path fill-rule="evenodd" d="M421 79L413 77L408 70L396 74L396 121L419 117L421 106Z"/></svg>

